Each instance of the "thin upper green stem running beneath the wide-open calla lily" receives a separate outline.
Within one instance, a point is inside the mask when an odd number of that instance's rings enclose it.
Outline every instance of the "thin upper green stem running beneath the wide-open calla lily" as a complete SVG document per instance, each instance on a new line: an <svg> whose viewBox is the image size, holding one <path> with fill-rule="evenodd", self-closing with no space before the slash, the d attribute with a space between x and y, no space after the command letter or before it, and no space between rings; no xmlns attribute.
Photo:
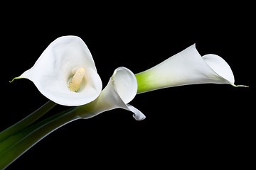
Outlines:
<svg viewBox="0 0 256 170"><path fill-rule="evenodd" d="M22 130L23 128L28 127L28 125L31 125L32 123L34 123L36 120L38 120L43 115L45 115L48 111L50 111L50 109L52 109L55 105L56 103L54 103L53 101L48 101L43 106L41 106L41 108L38 108L38 110L34 111L30 115L28 115L26 118L23 118L23 120L12 125L10 128L7 128L6 130L0 132L0 142L5 140L10 135L13 135L19 130Z"/></svg>

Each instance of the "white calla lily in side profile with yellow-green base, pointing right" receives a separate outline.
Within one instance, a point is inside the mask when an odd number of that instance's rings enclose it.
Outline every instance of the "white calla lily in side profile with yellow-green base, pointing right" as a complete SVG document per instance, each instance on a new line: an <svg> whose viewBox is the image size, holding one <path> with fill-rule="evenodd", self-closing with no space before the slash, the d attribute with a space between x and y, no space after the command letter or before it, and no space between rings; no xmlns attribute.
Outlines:
<svg viewBox="0 0 256 170"><path fill-rule="evenodd" d="M138 93L187 84L234 84L233 72L218 55L204 55L191 45L169 59L136 74ZM238 85L243 86L243 85Z"/></svg>

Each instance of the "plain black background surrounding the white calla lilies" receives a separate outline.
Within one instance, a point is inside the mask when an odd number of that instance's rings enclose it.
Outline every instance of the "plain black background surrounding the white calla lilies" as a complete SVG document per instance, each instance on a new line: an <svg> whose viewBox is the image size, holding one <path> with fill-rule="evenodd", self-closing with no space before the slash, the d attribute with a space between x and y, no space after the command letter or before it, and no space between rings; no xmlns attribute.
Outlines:
<svg viewBox="0 0 256 170"><path fill-rule="evenodd" d="M250 88L200 84L139 94L130 104L145 120L136 121L122 109L76 120L7 169L250 165L255 127L252 4L20 5L6 5L1 15L0 131L48 101L31 81L9 80L31 68L50 42L63 35L85 41L103 87L117 67L142 72L196 43L201 55L223 57L233 69L235 84ZM56 106L49 114L64 108Z"/></svg>

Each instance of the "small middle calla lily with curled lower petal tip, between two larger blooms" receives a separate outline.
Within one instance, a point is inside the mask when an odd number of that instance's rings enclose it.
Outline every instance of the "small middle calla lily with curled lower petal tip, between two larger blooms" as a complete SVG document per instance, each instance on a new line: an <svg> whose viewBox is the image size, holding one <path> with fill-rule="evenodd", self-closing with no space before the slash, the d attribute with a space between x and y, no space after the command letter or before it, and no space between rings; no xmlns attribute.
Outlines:
<svg viewBox="0 0 256 170"><path fill-rule="evenodd" d="M129 69L119 67L115 69L100 96L85 106L75 108L76 112L79 117L87 119L114 108L123 108L133 112L136 120L143 120L146 116L137 108L128 104L136 96L137 89L135 75Z"/></svg>

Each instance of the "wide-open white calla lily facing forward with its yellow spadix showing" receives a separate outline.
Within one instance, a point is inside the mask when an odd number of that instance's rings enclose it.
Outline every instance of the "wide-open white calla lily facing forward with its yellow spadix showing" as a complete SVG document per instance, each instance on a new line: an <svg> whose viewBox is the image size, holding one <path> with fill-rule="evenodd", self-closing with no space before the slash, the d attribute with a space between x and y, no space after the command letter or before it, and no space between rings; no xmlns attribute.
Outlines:
<svg viewBox="0 0 256 170"><path fill-rule="evenodd" d="M100 95L102 81L92 55L79 37L57 38L36 63L14 79L30 79L51 101L65 106L81 106Z"/></svg>

